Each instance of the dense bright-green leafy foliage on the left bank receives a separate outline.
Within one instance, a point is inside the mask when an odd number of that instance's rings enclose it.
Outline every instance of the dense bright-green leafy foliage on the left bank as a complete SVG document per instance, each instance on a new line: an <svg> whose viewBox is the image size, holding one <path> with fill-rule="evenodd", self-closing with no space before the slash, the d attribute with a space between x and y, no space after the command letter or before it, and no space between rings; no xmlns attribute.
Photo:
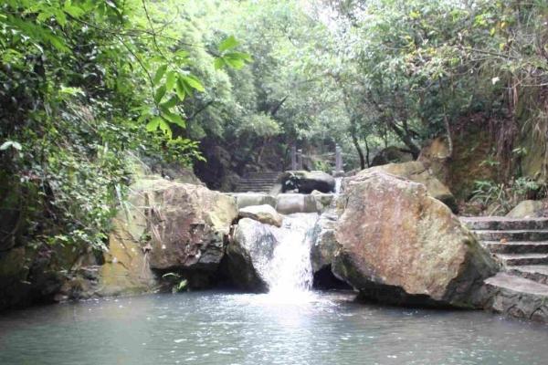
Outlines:
<svg viewBox="0 0 548 365"><path fill-rule="evenodd" d="M0 5L0 177L9 218L0 246L104 248L128 183L125 151L183 165L200 158L184 133L185 103L205 91L195 73L208 63L225 74L221 68L242 68L250 58L235 50L233 36L187 42L179 25L192 21L177 12L166 19L179 7Z"/></svg>

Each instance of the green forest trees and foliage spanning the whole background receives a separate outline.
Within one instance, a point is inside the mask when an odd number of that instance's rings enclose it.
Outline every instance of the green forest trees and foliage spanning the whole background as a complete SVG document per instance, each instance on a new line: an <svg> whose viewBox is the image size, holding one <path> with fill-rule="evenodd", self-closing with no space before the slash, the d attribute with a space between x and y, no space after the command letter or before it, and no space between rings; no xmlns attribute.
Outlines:
<svg viewBox="0 0 548 365"><path fill-rule="evenodd" d="M543 178L547 21L543 0L4 1L0 245L104 249L129 152L219 188L219 149L241 175L293 145L329 169L339 144L352 170L486 129L494 181Z"/></svg>

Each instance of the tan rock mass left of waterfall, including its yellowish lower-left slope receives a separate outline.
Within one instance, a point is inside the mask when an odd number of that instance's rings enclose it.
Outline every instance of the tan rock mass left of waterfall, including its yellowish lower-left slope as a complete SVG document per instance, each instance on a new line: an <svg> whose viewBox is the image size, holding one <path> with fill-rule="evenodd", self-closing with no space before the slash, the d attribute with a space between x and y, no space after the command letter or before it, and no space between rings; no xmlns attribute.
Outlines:
<svg viewBox="0 0 548 365"><path fill-rule="evenodd" d="M191 285L204 284L237 217L230 196L153 176L137 179L126 208L113 221L100 295L151 291L158 286L153 269L184 271Z"/></svg>

